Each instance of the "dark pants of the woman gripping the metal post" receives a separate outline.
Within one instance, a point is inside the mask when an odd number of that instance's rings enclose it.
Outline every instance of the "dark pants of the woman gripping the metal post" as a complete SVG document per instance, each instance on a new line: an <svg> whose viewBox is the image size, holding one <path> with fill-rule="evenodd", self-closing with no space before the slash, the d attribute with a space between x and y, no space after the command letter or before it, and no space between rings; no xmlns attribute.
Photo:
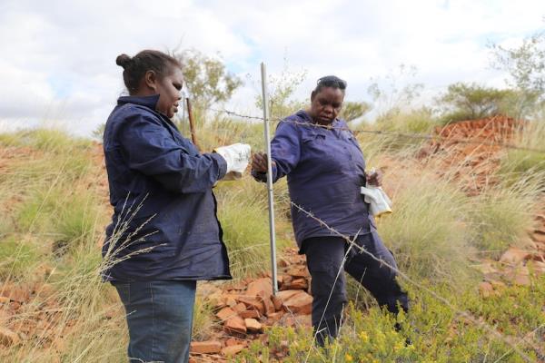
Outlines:
<svg viewBox="0 0 545 363"><path fill-rule="evenodd" d="M397 269L391 251L376 231L359 236L355 242ZM409 309L409 299L395 280L395 271L355 247L350 250L349 247L341 237L313 237L302 242L312 277L312 326L320 345L325 338L337 337L341 325L342 309L347 302L346 279L342 272L345 254L344 270L361 282L381 307L394 314L399 311L398 303L405 311Z"/></svg>

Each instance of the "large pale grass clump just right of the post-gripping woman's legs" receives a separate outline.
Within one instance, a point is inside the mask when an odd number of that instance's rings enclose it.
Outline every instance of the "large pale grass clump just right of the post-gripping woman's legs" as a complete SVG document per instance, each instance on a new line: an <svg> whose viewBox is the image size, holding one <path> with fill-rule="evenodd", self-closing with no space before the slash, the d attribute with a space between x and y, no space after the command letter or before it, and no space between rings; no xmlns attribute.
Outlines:
<svg viewBox="0 0 545 363"><path fill-rule="evenodd" d="M464 285L471 269L468 198L433 174L408 170L392 192L393 213L378 221L400 270L418 280Z"/></svg>

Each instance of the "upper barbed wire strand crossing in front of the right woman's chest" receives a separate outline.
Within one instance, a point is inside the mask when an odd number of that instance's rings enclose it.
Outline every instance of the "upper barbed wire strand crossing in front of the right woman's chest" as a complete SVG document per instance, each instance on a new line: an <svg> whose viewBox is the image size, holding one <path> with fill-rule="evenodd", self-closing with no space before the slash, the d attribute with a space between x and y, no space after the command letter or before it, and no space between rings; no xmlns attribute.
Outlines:
<svg viewBox="0 0 545 363"><path fill-rule="evenodd" d="M260 116L236 113L236 112L225 110L225 109L220 110L220 109L208 108L208 110L215 113L225 113L230 116L239 117L246 120L256 120L256 121L259 120L263 122L263 116L260 117ZM382 130L352 129L350 127L335 127L331 125L322 125L319 123L302 123L299 121L286 120L286 119L282 119L278 117L269 117L267 120L269 122L293 123L300 126L323 128L327 130L349 131L349 132L353 132L354 134L370 133L370 134L376 134L381 136L392 136L392 137L414 139L414 140L429 140L433 142L451 142L451 143L475 144L475 145L483 145L483 146L497 146L497 147L502 147L505 149L520 150L525 152L537 152L537 153L545 154L545 149L514 145L512 143L506 143L506 142L486 142L482 140L462 139L462 138L448 137L448 136L442 136L440 134L429 134L429 133L389 132L389 131L382 131Z"/></svg>

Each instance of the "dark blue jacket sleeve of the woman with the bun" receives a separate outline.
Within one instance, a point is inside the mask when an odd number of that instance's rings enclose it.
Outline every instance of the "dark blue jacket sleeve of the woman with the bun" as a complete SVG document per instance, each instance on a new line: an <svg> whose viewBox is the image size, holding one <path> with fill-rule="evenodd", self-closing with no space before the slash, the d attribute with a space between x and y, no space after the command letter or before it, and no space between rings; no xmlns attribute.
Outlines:
<svg viewBox="0 0 545 363"><path fill-rule="evenodd" d="M119 141L129 168L153 177L168 191L210 190L227 169L217 153L190 154L152 115L129 115L120 129Z"/></svg>

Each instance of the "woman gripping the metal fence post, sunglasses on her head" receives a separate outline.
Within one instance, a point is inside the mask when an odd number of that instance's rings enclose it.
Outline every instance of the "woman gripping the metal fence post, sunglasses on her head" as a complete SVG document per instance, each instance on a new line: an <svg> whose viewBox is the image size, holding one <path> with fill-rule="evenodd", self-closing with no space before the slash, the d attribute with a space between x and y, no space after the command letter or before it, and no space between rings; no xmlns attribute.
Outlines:
<svg viewBox="0 0 545 363"><path fill-rule="evenodd" d="M358 142L348 125L337 118L345 90L342 79L322 77L312 91L310 108L279 123L271 142L272 181L287 176L293 204L396 268L361 194L362 186L380 185L381 174L365 173ZM266 182L266 172L266 155L255 153L254 178ZM296 206L292 205L292 224L312 276L312 326L319 345L335 338L341 325L347 302L342 269L369 289L381 307L392 313L399 307L408 310L407 294L395 280L394 270L354 248Z"/></svg>

